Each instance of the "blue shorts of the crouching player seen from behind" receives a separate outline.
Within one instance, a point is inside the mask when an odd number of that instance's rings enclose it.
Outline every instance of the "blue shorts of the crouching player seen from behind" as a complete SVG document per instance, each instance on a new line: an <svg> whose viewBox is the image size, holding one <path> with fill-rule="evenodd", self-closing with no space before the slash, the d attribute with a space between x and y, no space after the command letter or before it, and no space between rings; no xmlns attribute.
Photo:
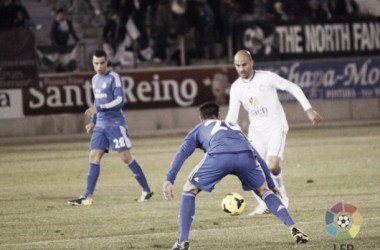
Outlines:
<svg viewBox="0 0 380 250"><path fill-rule="evenodd" d="M229 174L239 178L244 191L256 190L266 181L256 156L251 152L206 154L190 173L188 180L199 189L211 192Z"/></svg>

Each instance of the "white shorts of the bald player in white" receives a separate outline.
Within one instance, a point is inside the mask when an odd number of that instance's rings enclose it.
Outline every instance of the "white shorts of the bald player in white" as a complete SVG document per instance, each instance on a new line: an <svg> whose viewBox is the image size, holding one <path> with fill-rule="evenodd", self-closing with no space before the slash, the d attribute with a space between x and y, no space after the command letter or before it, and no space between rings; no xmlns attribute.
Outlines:
<svg viewBox="0 0 380 250"><path fill-rule="evenodd" d="M278 156L282 160L287 132L284 129L250 132L248 139L264 160L267 156Z"/></svg>

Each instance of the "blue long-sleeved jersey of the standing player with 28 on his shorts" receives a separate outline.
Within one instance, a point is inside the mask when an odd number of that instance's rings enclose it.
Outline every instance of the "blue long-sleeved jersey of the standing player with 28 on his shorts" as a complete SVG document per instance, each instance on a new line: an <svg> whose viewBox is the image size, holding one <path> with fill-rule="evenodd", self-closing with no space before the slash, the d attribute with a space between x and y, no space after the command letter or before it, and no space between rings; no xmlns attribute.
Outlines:
<svg viewBox="0 0 380 250"><path fill-rule="evenodd" d="M92 122L97 126L126 126L122 110L125 100L124 84L119 74L110 70L104 75L96 74L91 83L95 96L94 106L98 110Z"/></svg>

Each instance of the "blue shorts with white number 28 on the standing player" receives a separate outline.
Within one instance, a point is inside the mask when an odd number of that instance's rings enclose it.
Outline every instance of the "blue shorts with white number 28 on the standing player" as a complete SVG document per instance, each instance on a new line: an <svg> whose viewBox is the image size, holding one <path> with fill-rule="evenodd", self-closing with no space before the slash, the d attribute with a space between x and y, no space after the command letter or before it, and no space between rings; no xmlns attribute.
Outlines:
<svg viewBox="0 0 380 250"><path fill-rule="evenodd" d="M127 126L95 126L91 136L90 150L101 149L108 153L110 145L112 145L112 150L117 152L132 148Z"/></svg>

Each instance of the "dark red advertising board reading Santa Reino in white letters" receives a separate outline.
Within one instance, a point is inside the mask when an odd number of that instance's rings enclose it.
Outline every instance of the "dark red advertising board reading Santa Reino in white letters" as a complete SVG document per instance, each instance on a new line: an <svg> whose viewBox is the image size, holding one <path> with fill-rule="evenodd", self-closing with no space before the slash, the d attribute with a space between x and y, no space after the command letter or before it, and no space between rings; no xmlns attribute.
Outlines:
<svg viewBox="0 0 380 250"><path fill-rule="evenodd" d="M82 113L93 103L92 74L41 75L39 87L23 89L24 114ZM237 74L231 67L155 69L120 73L125 110L228 103Z"/></svg>

